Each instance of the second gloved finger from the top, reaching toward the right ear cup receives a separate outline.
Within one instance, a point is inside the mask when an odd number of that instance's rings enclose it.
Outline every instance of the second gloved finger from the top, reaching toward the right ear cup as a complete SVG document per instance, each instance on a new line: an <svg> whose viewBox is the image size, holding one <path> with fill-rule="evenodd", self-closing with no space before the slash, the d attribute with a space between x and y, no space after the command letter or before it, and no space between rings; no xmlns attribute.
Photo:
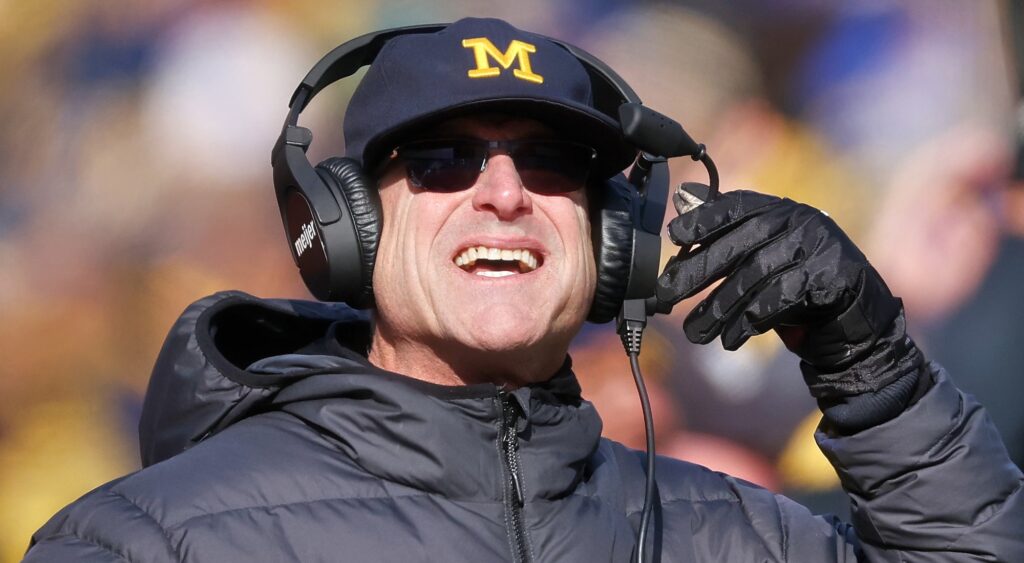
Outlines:
<svg viewBox="0 0 1024 563"><path fill-rule="evenodd" d="M757 221L735 226L692 254L670 261L657 279L658 300L675 304L696 295L733 271L748 256L785 235L799 215L799 211L795 214L787 207L777 207Z"/></svg>

